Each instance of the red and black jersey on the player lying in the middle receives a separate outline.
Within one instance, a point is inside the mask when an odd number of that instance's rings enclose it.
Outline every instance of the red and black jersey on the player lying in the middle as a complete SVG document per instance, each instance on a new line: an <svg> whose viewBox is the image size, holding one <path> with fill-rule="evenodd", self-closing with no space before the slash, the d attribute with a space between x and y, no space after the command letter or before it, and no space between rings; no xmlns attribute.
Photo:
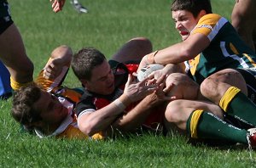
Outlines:
<svg viewBox="0 0 256 168"><path fill-rule="evenodd" d="M77 116L92 113L97 109L102 109L103 107L111 104L116 98L119 98L125 87L125 82L127 81L128 74L136 72L138 64L115 64L113 74L115 77L115 86L116 89L110 95L101 95L95 92L89 92L85 89L82 98L76 106L75 112ZM138 102L129 105L125 111L130 111L133 109ZM146 126L150 129L161 130L162 122L164 117L164 111L162 109L154 108L153 112L148 115L147 120L145 120L143 126Z"/></svg>

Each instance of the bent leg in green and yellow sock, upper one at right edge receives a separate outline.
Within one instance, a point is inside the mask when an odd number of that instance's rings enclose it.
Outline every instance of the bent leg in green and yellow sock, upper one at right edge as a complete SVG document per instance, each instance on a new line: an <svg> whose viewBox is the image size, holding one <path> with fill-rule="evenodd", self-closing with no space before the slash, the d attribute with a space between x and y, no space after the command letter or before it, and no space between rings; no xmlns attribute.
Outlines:
<svg viewBox="0 0 256 168"><path fill-rule="evenodd" d="M220 70L201 83L203 96L218 104L227 114L256 126L256 105L247 98L247 84L236 70Z"/></svg>

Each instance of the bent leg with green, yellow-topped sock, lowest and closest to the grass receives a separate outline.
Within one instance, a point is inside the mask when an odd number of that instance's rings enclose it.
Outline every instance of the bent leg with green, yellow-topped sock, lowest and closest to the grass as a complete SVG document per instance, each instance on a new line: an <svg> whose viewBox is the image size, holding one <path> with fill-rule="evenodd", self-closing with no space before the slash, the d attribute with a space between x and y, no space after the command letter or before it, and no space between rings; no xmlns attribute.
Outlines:
<svg viewBox="0 0 256 168"><path fill-rule="evenodd" d="M166 108L166 120L186 131L189 137L247 144L247 130L231 126L223 118L218 105L207 102L175 100Z"/></svg>

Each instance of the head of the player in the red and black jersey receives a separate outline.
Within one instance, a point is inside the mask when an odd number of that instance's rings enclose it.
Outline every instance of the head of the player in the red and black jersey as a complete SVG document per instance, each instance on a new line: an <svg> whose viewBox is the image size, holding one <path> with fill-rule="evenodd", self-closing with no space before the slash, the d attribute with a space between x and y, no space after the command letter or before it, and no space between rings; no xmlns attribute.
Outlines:
<svg viewBox="0 0 256 168"><path fill-rule="evenodd" d="M72 68L90 92L108 95L114 90L113 72L106 57L96 48L82 48L73 55Z"/></svg>

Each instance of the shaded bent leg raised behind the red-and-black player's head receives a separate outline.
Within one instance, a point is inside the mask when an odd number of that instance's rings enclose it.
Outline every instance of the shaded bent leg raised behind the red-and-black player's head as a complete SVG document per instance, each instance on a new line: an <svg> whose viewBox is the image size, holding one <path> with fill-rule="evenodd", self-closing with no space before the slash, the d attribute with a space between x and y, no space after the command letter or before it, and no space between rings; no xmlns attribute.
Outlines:
<svg viewBox="0 0 256 168"><path fill-rule="evenodd" d="M119 48L111 59L120 63L140 61L144 55L152 52L152 43L145 37L132 38Z"/></svg>

